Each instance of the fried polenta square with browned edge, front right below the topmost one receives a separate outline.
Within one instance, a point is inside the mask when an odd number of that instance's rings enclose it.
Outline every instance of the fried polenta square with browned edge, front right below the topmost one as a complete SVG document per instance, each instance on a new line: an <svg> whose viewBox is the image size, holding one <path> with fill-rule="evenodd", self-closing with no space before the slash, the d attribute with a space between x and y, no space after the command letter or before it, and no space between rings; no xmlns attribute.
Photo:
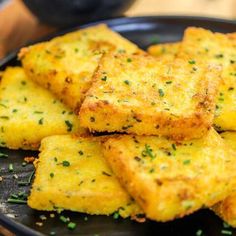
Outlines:
<svg viewBox="0 0 236 236"><path fill-rule="evenodd" d="M108 139L103 153L152 220L165 222L212 206L233 189L236 159L214 129L184 142L123 135Z"/></svg>

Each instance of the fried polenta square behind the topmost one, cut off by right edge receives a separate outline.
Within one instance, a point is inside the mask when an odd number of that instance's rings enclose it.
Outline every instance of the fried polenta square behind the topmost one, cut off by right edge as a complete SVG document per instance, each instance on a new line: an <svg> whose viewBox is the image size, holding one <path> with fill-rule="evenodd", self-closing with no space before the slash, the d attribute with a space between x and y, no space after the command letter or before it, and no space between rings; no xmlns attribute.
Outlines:
<svg viewBox="0 0 236 236"><path fill-rule="evenodd" d="M184 33L178 56L192 63L202 61L222 66L222 82L214 119L218 131L236 130L236 34L213 33L190 27Z"/></svg>

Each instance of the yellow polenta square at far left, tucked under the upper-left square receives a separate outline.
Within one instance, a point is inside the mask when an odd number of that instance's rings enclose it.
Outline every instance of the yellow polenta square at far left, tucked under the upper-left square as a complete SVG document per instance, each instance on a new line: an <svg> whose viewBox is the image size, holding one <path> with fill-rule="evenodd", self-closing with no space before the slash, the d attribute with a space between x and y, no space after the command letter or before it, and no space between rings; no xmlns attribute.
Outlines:
<svg viewBox="0 0 236 236"><path fill-rule="evenodd" d="M0 81L0 146L38 149L54 134L86 133L73 112L32 82L20 67L9 67Z"/></svg>

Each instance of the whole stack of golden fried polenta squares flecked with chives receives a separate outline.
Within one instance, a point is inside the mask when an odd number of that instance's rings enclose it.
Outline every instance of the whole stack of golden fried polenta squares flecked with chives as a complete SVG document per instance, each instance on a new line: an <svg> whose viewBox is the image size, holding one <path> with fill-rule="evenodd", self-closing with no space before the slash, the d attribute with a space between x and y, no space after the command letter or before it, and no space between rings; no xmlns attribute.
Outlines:
<svg viewBox="0 0 236 236"><path fill-rule="evenodd" d="M236 226L236 34L187 28L148 53L98 25L2 73L0 144L42 140L29 206L161 222L207 207Z"/></svg>

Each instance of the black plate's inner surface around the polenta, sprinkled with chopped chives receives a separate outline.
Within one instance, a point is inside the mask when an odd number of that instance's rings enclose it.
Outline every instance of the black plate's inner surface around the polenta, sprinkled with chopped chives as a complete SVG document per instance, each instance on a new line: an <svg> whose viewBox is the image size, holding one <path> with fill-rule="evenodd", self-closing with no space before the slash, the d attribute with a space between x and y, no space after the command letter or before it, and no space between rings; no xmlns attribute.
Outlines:
<svg viewBox="0 0 236 236"><path fill-rule="evenodd" d="M181 17L181 16L151 16L135 18L119 18L102 21L108 24L113 30L121 33L126 38L137 43L142 48L147 48L156 42L173 42L181 39L183 31L188 26L200 26L213 31L229 33L236 31L236 22L202 18L202 17ZM94 23L95 24L95 23ZM91 24L89 24L91 25ZM82 27L86 27L84 25ZM70 29L66 32L75 29ZM56 35L65 32L57 33ZM55 34L50 36L52 38ZM0 69L9 65L19 64L16 60L16 53L12 53L0 62ZM14 134L12 134L14 135ZM223 222L210 210L201 210L183 219L178 219L168 223L157 223L147 221L139 224L131 220L113 219L112 216L86 216L85 214L64 212L72 221L77 223L74 231L69 231L66 225L59 220L57 214L55 218L50 218L49 213L37 212L26 205L9 204L7 198L12 193L21 190L29 191L28 187L19 187L17 182L25 180L33 170L33 166L22 167L24 156L37 155L30 151L12 151L0 148L0 152L7 153L8 158L0 159L0 176L3 181L0 183L0 223L17 235L41 235L49 234L51 231L57 235L196 235L201 229L204 235L222 235ZM9 173L8 166L14 164L14 173L19 176L16 180L13 174ZM40 222L39 216L44 214L47 220L43 226L37 226L35 222ZM15 215L14 219L9 216ZM88 219L87 219L87 218ZM236 233L236 231L235 231Z"/></svg>

